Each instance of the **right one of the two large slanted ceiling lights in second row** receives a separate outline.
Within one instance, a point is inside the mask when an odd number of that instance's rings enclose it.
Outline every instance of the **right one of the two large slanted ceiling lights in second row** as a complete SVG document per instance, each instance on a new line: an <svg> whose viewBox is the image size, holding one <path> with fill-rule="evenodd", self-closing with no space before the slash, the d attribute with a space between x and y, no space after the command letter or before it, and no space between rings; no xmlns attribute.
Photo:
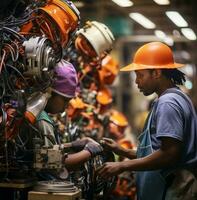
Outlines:
<svg viewBox="0 0 197 200"><path fill-rule="evenodd" d="M178 27L187 27L188 26L188 23L178 12L166 11L166 15L176 26L178 26Z"/></svg>

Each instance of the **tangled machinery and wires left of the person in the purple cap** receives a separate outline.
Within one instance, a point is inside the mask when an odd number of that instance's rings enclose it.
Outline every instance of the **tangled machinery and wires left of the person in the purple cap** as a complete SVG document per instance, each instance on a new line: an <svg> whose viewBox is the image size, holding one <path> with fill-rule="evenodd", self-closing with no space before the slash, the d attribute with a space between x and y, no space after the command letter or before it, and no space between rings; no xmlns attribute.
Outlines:
<svg viewBox="0 0 197 200"><path fill-rule="evenodd" d="M9 16L1 18L1 180L13 174L26 179L37 169L62 167L64 151L60 146L46 149L34 124L50 97L48 88L62 48L69 45L79 23L79 11L69 0L17 0Z"/></svg>

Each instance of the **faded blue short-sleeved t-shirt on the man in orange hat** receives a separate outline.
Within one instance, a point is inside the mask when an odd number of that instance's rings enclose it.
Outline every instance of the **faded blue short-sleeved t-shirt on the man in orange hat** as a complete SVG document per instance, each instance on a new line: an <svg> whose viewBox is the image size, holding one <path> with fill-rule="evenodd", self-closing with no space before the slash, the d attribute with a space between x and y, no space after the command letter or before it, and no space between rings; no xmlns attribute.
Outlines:
<svg viewBox="0 0 197 200"><path fill-rule="evenodd" d="M153 107L153 149L160 148L161 137L177 139L183 143L181 166L197 165L197 117L188 97L178 88L167 89Z"/></svg>

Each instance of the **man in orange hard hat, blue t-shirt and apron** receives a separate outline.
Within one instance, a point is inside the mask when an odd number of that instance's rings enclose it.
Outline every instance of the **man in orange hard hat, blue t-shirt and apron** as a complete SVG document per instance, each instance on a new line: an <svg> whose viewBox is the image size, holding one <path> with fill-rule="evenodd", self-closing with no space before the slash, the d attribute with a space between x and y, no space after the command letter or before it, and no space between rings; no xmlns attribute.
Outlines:
<svg viewBox="0 0 197 200"><path fill-rule="evenodd" d="M133 62L121 69L134 71L140 92L145 96L156 93L158 98L139 136L137 152L104 139L108 148L131 160L105 163L98 174L109 178L136 171L138 200L197 197L197 117L191 100L178 87L185 82L178 70L182 66L167 45L151 42L140 47Z"/></svg>

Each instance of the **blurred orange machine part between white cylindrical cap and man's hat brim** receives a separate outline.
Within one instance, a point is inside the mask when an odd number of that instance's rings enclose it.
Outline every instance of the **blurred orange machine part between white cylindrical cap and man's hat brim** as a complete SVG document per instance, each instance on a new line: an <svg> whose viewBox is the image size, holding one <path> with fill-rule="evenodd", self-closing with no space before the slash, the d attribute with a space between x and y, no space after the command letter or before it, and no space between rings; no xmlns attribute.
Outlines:
<svg viewBox="0 0 197 200"><path fill-rule="evenodd" d="M107 55L101 62L101 69L98 70L98 74L102 84L111 85L118 74L117 61Z"/></svg>

